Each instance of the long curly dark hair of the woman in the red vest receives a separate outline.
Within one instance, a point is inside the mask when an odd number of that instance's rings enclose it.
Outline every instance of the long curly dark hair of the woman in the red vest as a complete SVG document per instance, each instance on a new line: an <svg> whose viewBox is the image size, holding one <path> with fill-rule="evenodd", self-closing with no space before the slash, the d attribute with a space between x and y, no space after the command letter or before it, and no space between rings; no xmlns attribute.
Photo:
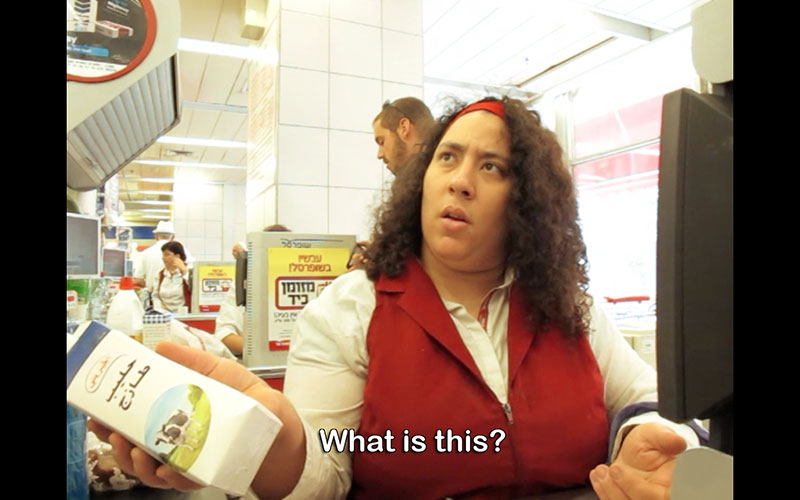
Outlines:
<svg viewBox="0 0 800 500"><path fill-rule="evenodd" d="M586 246L561 146L538 112L523 102L509 97L483 100L503 102L511 136L505 266L517 273L515 285L531 312L529 321L537 329L558 325L568 337L586 333L591 304ZM437 120L421 151L398 172L389 199L376 210L372 244L365 252L371 280L381 274L396 277L409 256L420 256L423 178L448 124L464 107L455 102Z"/></svg>

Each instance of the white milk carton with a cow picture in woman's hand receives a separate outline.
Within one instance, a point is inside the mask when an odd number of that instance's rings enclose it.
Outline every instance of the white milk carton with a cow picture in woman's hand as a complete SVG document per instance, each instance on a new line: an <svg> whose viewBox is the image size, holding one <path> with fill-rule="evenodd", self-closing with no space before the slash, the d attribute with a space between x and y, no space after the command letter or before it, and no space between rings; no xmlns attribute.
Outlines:
<svg viewBox="0 0 800 500"><path fill-rule="evenodd" d="M247 492L282 426L258 401L96 321L67 334L67 402L234 496Z"/></svg>

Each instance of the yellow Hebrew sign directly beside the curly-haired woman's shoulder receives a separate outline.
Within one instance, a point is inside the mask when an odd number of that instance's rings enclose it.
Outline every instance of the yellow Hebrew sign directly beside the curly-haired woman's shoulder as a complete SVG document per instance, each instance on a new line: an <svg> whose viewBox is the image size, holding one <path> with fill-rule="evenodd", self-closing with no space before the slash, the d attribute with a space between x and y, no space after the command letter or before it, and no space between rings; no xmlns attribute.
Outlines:
<svg viewBox="0 0 800 500"><path fill-rule="evenodd" d="M289 349L298 313L347 272L349 255L349 248L269 249L267 281L274 296L269 302L271 351Z"/></svg>

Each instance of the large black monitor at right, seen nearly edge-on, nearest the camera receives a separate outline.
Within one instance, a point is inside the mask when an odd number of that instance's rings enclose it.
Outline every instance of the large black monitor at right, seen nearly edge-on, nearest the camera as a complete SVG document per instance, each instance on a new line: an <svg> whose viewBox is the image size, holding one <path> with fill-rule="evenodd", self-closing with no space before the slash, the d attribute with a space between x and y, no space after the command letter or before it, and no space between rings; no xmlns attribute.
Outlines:
<svg viewBox="0 0 800 500"><path fill-rule="evenodd" d="M659 413L710 420L733 455L733 82L664 96L658 188Z"/></svg>

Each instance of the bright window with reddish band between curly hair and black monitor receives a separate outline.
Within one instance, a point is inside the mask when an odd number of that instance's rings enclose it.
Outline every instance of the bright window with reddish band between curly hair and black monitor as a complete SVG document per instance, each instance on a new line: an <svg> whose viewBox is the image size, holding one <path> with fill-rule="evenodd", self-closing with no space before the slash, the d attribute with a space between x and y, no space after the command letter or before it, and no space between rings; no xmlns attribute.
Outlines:
<svg viewBox="0 0 800 500"><path fill-rule="evenodd" d="M570 160L589 259L589 291L656 294L658 164L663 96L697 90L691 29L658 39L583 80L570 100Z"/></svg>

